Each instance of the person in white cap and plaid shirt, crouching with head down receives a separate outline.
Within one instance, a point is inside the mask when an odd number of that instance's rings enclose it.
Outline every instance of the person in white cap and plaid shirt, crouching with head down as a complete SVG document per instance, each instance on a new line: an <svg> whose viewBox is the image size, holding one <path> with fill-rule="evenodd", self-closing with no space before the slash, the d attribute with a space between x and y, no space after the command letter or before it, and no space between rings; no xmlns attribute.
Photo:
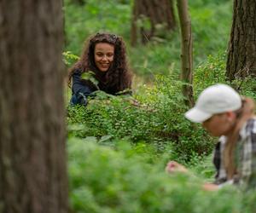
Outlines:
<svg viewBox="0 0 256 213"><path fill-rule="evenodd" d="M227 183L256 187L256 118L254 102L241 96L226 84L215 84L201 92L195 107L185 117L201 123L212 136L218 136L213 164L217 174L215 190ZM183 165L170 161L166 171L186 172Z"/></svg>

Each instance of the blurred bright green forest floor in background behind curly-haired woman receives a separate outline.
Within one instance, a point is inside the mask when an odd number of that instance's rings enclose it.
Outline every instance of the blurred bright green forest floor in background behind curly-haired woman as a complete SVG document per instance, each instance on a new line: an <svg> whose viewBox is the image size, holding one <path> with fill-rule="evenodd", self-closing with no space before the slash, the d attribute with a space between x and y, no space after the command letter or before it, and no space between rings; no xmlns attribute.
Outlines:
<svg viewBox="0 0 256 213"><path fill-rule="evenodd" d="M130 47L133 1L87 0L83 6L65 1L66 49L80 55L84 40L96 32L111 32L124 37L131 68L143 78L155 73L178 72L180 66L179 30L146 46ZM176 9L176 7L174 7ZM176 12L177 13L177 12ZM229 41L232 1L189 1L195 67L207 55L224 52ZM176 15L177 16L177 15ZM178 21L177 21L178 22ZM177 23L178 24L178 23Z"/></svg>

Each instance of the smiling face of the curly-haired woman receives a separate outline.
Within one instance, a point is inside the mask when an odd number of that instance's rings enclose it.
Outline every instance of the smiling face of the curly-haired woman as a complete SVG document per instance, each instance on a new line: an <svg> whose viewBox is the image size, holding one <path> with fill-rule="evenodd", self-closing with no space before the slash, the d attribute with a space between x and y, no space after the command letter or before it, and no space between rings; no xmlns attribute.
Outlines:
<svg viewBox="0 0 256 213"><path fill-rule="evenodd" d="M94 61L101 72L107 72L113 63L114 47L109 43L96 43Z"/></svg>

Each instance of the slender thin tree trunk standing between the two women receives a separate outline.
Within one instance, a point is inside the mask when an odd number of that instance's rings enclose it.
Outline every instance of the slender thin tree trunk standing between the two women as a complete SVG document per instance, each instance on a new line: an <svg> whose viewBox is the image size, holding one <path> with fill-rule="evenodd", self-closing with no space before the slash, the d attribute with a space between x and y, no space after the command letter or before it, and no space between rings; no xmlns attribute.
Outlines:
<svg viewBox="0 0 256 213"><path fill-rule="evenodd" d="M180 20L181 36L182 36L182 54L181 54L181 79L183 85L183 95L185 103L189 107L195 105L193 98L193 56L192 56L192 32L191 21L189 18L189 7L187 0L177 1L178 17ZM189 83L189 84L187 84Z"/></svg>

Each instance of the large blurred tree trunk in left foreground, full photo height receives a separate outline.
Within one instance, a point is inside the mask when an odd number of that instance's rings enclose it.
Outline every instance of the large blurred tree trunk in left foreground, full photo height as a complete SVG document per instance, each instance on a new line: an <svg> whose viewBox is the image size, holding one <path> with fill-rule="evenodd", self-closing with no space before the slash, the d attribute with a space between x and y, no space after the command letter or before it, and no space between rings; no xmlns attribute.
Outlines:
<svg viewBox="0 0 256 213"><path fill-rule="evenodd" d="M0 1L0 212L67 212L61 0Z"/></svg>

